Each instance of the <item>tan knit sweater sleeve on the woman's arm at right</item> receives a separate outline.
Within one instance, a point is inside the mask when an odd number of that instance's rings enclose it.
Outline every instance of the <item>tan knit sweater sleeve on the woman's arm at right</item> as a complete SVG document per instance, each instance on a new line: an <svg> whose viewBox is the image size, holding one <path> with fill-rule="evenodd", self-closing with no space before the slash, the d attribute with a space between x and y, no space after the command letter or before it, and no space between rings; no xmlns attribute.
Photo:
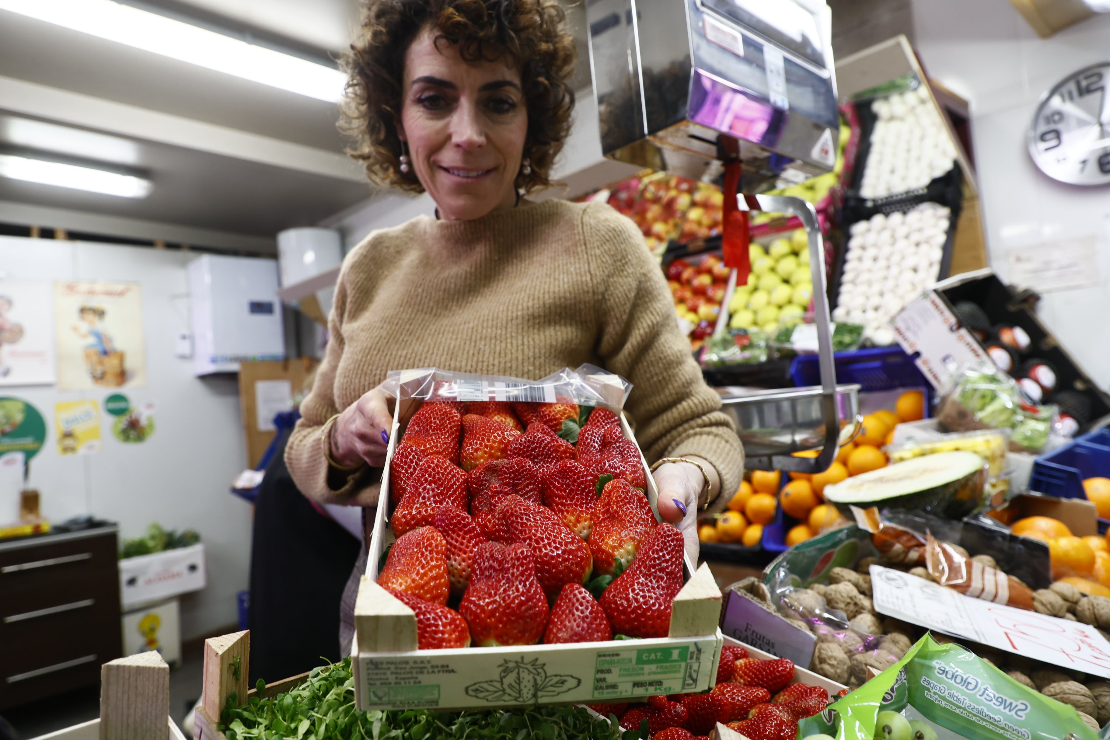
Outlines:
<svg viewBox="0 0 1110 740"><path fill-rule="evenodd" d="M583 234L599 326L597 353L632 382L625 410L648 462L703 457L730 495L744 475L744 448L720 397L706 385L678 330L659 266L636 225L606 204L583 213Z"/></svg>

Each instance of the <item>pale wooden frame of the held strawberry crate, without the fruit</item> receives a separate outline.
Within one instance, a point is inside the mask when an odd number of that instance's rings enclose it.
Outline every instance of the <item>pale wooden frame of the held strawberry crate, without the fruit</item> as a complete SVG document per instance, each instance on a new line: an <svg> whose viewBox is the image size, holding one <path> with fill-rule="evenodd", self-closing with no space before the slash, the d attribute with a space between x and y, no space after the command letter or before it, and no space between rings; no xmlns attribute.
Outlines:
<svg viewBox="0 0 1110 740"><path fill-rule="evenodd" d="M355 604L355 699L359 709L494 709L548 703L625 701L713 686L723 636L722 595L707 566L685 558L666 638L446 650L416 649L416 617L375 581L393 541L390 463L420 398L397 402L373 535ZM619 402L614 405L619 406ZM624 415L622 429L635 442ZM640 455L647 498L658 490Z"/></svg>

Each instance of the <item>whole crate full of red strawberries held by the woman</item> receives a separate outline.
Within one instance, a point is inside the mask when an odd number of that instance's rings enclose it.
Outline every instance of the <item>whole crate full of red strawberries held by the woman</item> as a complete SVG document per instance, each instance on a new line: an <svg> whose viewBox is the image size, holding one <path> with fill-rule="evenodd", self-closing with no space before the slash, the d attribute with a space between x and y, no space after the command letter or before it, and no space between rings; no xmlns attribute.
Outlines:
<svg viewBox="0 0 1110 740"><path fill-rule="evenodd" d="M355 605L360 709L704 691L720 590L695 571L620 405L584 366L537 382L393 374L382 505Z"/></svg>

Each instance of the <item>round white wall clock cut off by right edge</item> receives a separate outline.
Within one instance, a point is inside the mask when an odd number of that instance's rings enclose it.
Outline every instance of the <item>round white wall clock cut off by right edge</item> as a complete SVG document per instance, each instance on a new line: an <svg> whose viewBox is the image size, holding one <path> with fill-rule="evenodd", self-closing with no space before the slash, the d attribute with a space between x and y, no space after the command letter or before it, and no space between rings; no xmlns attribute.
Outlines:
<svg viewBox="0 0 1110 740"><path fill-rule="evenodd" d="M1029 155L1053 180L1110 184L1110 61L1072 72L1045 93L1029 126Z"/></svg>

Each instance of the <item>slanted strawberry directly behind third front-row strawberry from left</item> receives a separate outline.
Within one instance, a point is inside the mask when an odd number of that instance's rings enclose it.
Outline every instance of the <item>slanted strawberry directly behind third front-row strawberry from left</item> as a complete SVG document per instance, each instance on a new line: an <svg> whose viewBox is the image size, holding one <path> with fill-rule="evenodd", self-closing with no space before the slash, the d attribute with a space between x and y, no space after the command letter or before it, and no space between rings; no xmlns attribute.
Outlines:
<svg viewBox="0 0 1110 740"><path fill-rule="evenodd" d="M589 548L549 509L519 496L508 496L497 508L513 541L527 544L535 554L536 577L548 601L555 601L566 584L589 577Z"/></svg>

